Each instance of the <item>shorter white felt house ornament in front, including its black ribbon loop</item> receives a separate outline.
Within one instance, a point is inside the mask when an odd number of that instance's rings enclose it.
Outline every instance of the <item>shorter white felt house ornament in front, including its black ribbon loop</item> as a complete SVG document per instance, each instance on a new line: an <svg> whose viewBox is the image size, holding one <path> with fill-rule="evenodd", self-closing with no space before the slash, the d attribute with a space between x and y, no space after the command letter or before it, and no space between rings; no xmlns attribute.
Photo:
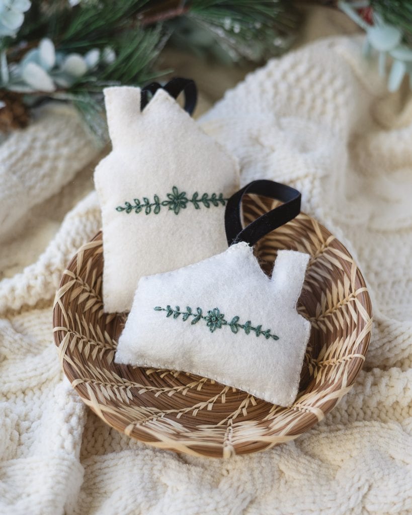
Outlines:
<svg viewBox="0 0 412 515"><path fill-rule="evenodd" d="M243 195L262 192L287 201L242 229ZM311 329L296 311L309 255L279 251L269 278L250 244L295 217L299 206L296 190L271 181L235 194L226 210L229 249L140 280L116 363L192 372L290 406Z"/></svg>

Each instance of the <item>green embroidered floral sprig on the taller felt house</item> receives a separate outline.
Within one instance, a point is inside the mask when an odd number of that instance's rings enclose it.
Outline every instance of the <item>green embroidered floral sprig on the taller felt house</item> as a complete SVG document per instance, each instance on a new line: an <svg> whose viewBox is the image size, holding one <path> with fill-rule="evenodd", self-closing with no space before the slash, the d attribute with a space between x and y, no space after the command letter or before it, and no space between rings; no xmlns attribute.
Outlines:
<svg viewBox="0 0 412 515"><path fill-rule="evenodd" d="M132 211L140 213L144 210L146 215L149 215L152 211L157 215L160 213L162 205L164 205L168 206L169 211L174 211L175 215L178 215L181 209L186 209L188 203L193 204L195 209L200 209L201 205L209 209L211 205L215 207L226 205L226 202L229 200L224 198L222 193L219 193L219 195L212 193L210 196L207 193L203 193L203 195L199 197L199 193L195 192L192 198L188 198L186 197L186 192L179 192L176 186L173 186L172 193L167 193L166 197L168 200L161 201L158 195L154 195L153 202L150 202L147 197L143 197L142 202L140 199L135 198L133 199L134 204L125 202L124 206L118 205L116 211L124 211L129 214Z"/></svg>

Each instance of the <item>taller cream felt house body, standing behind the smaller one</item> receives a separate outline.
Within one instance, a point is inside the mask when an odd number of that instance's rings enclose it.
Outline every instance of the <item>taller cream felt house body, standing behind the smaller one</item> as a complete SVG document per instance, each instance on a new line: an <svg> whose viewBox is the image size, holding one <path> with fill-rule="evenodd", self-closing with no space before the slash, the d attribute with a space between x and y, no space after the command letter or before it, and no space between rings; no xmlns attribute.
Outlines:
<svg viewBox="0 0 412 515"><path fill-rule="evenodd" d="M103 297L105 311L123 312L130 310L140 277L227 248L225 201L219 196L229 198L239 178L235 159L164 90L143 112L139 88L108 88L105 101L113 150L94 175L103 226ZM145 203L143 209L136 210L135 199Z"/></svg>

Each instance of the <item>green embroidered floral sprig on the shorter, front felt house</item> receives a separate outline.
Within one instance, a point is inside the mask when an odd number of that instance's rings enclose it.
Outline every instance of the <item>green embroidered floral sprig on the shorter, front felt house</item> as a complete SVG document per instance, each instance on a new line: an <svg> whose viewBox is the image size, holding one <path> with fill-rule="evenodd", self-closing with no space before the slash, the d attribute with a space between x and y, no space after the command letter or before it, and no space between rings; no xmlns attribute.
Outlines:
<svg viewBox="0 0 412 515"><path fill-rule="evenodd" d="M225 319L225 314L220 313L219 309L215 307L213 310L208 311L206 316L203 315L203 311L200 307L196 308L196 312L192 311L190 306L186 306L186 311L180 311L180 307L176 306L175 309L172 309L169 305L166 307L156 306L153 308L155 311L165 311L166 317L179 318L182 315L182 320L185 322L190 317L193 317L191 324L197 323L199 320L204 320L206 325L209 327L211 333L213 333L216 329L221 329L224 325L227 325L232 330L232 333L237 333L239 329L243 329L246 334L254 333L256 336L263 335L267 340L269 338L273 338L274 340L279 340L279 336L276 334L271 334L270 329L266 329L266 331L262 331L262 325L256 325L253 327L252 322L248 320L244 324L238 323L239 317L235 316L232 318L230 322Z"/></svg>

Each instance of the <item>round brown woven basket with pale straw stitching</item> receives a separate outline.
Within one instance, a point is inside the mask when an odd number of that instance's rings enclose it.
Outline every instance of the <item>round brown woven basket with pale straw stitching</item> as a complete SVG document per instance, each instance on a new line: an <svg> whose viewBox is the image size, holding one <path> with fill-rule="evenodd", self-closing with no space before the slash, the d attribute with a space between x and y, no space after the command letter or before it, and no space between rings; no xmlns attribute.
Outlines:
<svg viewBox="0 0 412 515"><path fill-rule="evenodd" d="M245 222L273 207L272 200L249 196ZM126 315L103 312L101 233L68 265L53 312L61 365L85 404L126 435L198 456L262 451L307 431L349 391L361 370L371 304L348 251L313 218L300 214L256 245L265 271L285 248L312 255L298 303L312 333L293 406L272 405L190 373L115 364Z"/></svg>

